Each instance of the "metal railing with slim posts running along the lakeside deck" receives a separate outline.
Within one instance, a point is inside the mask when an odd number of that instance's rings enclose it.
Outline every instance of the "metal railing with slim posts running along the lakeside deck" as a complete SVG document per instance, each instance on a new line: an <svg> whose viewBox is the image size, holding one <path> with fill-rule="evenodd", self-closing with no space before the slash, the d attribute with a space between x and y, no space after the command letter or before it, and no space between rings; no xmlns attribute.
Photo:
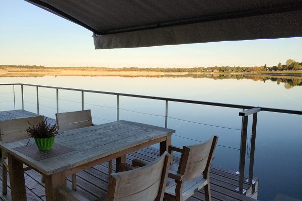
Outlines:
<svg viewBox="0 0 302 201"><path fill-rule="evenodd" d="M248 183L250 183L254 186L255 181L253 181L253 169L254 169L254 153L255 153L256 127L257 127L257 114L258 114L258 112L267 111L267 112L302 115L302 111L283 110L283 109L274 109L274 108L265 108L265 107L254 107L254 106L244 106L244 105L234 105L234 104L222 104L222 103L213 103L213 102L203 102L203 101L198 101L198 100L187 100L187 99L137 95L137 94L128 94L128 93L116 93L116 92L108 92L108 91L96 91L96 90L65 88L65 87L55 87L55 86L44 86L44 85L35 85L35 84L23 84L23 83L0 84L0 85L13 85L14 86L14 108L15 108L15 110L16 110L15 85L21 85L22 110L24 110L23 86L36 87L37 114L39 114L39 87L56 89L56 111L57 111L57 113L59 112L59 90L81 91L82 110L84 110L84 92L116 95L117 96L117 105L116 105L116 120L117 121L119 120L120 96L165 100L166 101L166 107L165 107L165 127L166 128L168 127L168 103L169 102L178 102L178 103L188 103L188 104L197 104L197 105L207 105L207 106L216 106L216 107L224 107L224 108L242 109L243 112L239 113L239 116L242 116L242 129L241 129L240 159L239 159L239 185L238 185L238 188L236 190L238 190L239 192L241 192L243 194L246 193L246 189L243 188L243 185L244 185L244 169L245 169L245 157L246 157L246 145L247 145L248 117L250 115L253 115L251 149L250 149L250 153L249 153L249 155L250 155L250 157L249 157L250 158L250 161L249 161L249 176L248 176L248 179L246 180L246 182L248 182Z"/></svg>

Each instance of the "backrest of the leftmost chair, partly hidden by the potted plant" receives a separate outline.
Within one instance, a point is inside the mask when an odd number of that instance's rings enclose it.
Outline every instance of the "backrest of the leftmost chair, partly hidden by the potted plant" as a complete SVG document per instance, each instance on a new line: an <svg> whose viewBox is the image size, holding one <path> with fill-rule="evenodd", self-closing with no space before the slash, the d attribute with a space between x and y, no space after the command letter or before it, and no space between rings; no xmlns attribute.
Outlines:
<svg viewBox="0 0 302 201"><path fill-rule="evenodd" d="M31 125L36 122L43 122L44 116L26 117L13 120L0 121L0 133L2 142L13 142L28 139L30 136L26 132Z"/></svg>

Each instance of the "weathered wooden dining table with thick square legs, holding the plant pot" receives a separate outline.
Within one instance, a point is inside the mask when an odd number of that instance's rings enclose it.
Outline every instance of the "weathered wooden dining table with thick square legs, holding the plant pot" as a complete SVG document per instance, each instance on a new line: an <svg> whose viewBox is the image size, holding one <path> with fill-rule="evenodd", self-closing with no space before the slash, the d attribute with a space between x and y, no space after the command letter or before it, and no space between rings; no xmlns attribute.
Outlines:
<svg viewBox="0 0 302 201"><path fill-rule="evenodd" d="M116 169L126 154L160 143L160 154L168 151L175 130L130 121L116 121L64 131L55 137L51 151L37 151L28 140L0 142L8 153L13 201L26 200L23 163L44 175L46 200L64 200L57 188L66 177L100 163L116 159Z"/></svg>

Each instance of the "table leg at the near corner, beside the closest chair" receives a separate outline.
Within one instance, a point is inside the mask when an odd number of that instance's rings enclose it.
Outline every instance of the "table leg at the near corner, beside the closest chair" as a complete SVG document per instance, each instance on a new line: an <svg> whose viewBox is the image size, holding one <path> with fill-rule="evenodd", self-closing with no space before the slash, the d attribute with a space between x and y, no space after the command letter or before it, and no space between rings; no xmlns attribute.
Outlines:
<svg viewBox="0 0 302 201"><path fill-rule="evenodd" d="M45 194L46 201L60 201L66 200L59 191L58 187L61 185L65 185L66 177L64 176L64 172L54 173L52 175L45 175Z"/></svg>

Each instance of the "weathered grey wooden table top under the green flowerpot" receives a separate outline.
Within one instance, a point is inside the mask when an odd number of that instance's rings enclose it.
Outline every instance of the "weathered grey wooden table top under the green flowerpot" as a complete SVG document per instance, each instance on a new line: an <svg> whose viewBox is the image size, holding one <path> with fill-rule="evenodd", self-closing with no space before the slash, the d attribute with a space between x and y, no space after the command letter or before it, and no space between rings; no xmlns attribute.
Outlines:
<svg viewBox="0 0 302 201"><path fill-rule="evenodd" d="M28 139L0 142L0 147L43 174L50 175L172 133L175 130L123 120L64 131L55 137L55 143L73 148L73 151L39 161L13 149L25 146Z"/></svg>

